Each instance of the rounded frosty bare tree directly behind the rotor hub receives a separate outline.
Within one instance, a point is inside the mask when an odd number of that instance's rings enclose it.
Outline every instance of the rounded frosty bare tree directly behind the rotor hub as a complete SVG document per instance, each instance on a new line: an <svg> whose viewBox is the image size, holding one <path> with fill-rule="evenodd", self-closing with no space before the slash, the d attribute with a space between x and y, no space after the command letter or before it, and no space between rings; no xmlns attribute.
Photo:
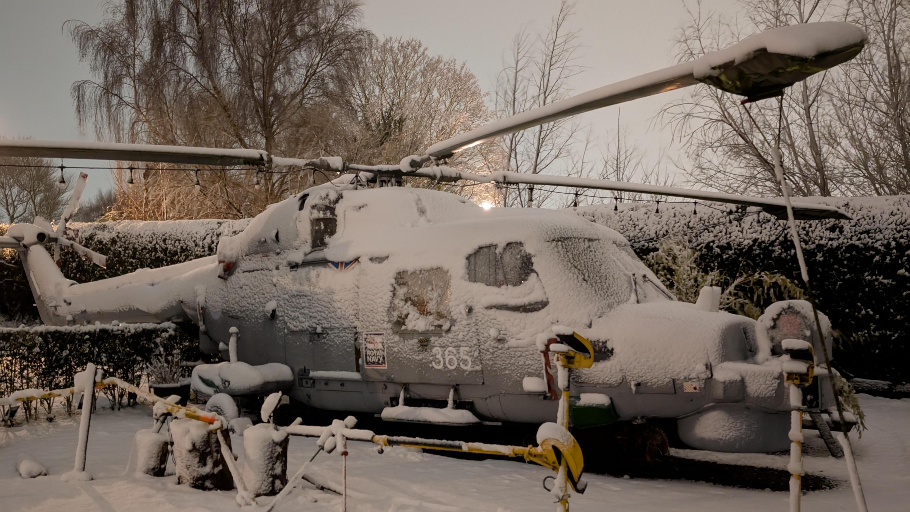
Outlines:
<svg viewBox="0 0 910 512"><path fill-rule="evenodd" d="M467 65L431 56L417 39L373 41L339 83L339 130L325 148L350 160L398 162L422 154L434 142L492 118L486 95ZM476 148L460 151L450 165L474 171L484 166Z"/></svg>

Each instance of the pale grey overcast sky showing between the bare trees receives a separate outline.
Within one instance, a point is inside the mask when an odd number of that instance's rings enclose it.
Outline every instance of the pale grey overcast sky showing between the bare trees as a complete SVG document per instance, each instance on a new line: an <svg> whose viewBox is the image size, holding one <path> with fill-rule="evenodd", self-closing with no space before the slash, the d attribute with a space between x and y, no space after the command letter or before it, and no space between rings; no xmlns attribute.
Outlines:
<svg viewBox="0 0 910 512"><path fill-rule="evenodd" d="M703 8L727 8L732 0L705 0ZM90 24L102 17L98 0L0 0L0 135L60 140L94 140L76 128L69 90L90 77L61 27L67 19ZM466 61L490 91L503 53L521 27L543 30L557 0L367 0L364 23L378 36L412 36L430 52ZM571 27L581 31L576 91L600 87L673 64L672 37L685 20L682 0L580 0ZM636 100L622 106L631 138L655 153L668 150L666 130L652 127L658 110L674 96ZM617 107L581 116L595 135L616 125ZM66 162L79 165L76 161ZM88 194L109 187L107 171L89 173Z"/></svg>

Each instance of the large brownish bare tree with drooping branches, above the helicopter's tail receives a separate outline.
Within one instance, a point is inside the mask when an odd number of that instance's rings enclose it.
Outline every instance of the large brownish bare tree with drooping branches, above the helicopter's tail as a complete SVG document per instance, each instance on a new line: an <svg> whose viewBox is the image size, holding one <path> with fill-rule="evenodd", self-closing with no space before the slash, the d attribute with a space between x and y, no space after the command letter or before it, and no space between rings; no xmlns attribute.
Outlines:
<svg viewBox="0 0 910 512"><path fill-rule="evenodd" d="M356 0L128 0L105 11L97 26L73 20L66 29L94 75L73 85L77 117L115 141L311 156L319 147L308 126L319 125L332 80L368 35ZM149 193L178 178L191 187L196 173L160 174L145 172ZM248 217L299 179L249 169L206 178L200 199L168 216Z"/></svg>

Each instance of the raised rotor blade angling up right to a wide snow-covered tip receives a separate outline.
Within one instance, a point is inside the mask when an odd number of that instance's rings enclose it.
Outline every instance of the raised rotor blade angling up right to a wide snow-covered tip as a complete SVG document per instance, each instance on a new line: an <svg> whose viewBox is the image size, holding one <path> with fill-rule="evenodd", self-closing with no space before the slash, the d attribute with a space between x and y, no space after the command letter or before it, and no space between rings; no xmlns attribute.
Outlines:
<svg viewBox="0 0 910 512"><path fill-rule="evenodd" d="M744 96L749 101L780 96L786 87L850 60L863 49L866 40L862 29L844 22L773 28L693 61L592 89L472 129L433 144L427 154L437 159L449 158L490 138L699 82Z"/></svg>

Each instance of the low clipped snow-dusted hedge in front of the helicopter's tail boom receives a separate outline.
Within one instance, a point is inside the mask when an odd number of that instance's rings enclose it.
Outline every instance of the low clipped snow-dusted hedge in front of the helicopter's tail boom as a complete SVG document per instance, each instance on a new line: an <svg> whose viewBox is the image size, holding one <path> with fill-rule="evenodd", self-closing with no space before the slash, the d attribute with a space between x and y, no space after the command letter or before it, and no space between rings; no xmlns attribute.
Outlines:
<svg viewBox="0 0 910 512"><path fill-rule="evenodd" d="M146 366L162 354L190 361L202 356L197 338L175 323L0 328L0 396L69 387L88 363L138 385Z"/></svg>

